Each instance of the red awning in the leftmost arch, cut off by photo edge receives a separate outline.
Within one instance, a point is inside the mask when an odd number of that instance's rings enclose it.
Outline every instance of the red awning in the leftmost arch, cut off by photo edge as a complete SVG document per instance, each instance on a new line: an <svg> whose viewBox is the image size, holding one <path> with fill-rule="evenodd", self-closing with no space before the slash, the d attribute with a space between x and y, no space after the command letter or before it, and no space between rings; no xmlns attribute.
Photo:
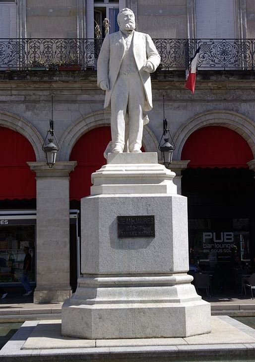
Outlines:
<svg viewBox="0 0 255 362"><path fill-rule="evenodd" d="M35 173L27 165L36 161L31 143L22 134L0 127L0 145L0 199L35 198Z"/></svg>

